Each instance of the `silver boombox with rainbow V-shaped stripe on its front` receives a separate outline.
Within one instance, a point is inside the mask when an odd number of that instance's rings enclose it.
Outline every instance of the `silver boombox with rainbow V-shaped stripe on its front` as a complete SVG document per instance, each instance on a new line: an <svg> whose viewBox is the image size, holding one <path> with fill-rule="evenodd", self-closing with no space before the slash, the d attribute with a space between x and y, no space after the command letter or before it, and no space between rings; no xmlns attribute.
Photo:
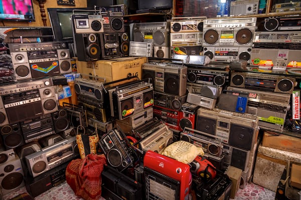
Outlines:
<svg viewBox="0 0 301 200"><path fill-rule="evenodd" d="M13 43L10 49L17 80L72 72L65 42Z"/></svg>

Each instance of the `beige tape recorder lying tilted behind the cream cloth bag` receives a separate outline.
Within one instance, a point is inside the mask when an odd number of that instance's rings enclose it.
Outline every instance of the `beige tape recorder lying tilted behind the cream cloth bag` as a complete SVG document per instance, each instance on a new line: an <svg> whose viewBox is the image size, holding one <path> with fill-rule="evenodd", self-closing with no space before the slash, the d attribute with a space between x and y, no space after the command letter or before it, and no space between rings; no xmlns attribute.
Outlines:
<svg viewBox="0 0 301 200"><path fill-rule="evenodd" d="M162 153L163 150L173 143L173 131L165 123L160 123L144 132L145 137L137 142L138 148L145 153L152 150Z"/></svg>

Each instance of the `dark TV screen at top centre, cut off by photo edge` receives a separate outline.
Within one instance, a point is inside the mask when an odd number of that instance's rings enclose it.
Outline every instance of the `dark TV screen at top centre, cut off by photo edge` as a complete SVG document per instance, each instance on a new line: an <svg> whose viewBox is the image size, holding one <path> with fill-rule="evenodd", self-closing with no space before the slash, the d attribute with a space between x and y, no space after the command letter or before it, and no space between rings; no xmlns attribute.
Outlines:
<svg viewBox="0 0 301 200"><path fill-rule="evenodd" d="M139 9L169 9L173 7L173 0L138 0Z"/></svg>

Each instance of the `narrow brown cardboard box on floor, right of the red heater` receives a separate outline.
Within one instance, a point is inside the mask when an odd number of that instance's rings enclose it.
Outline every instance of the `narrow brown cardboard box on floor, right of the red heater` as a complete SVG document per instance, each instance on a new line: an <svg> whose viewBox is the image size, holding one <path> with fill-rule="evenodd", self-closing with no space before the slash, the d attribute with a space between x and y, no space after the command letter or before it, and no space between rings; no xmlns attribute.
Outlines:
<svg viewBox="0 0 301 200"><path fill-rule="evenodd" d="M230 198L235 198L236 192L239 189L242 170L230 165L226 174L232 180Z"/></svg>

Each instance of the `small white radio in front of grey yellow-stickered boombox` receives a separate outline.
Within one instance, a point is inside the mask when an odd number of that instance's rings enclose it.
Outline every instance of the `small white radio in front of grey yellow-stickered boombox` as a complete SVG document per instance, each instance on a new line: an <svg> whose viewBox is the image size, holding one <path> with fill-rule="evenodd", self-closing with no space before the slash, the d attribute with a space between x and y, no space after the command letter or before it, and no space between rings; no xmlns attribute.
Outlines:
<svg viewBox="0 0 301 200"><path fill-rule="evenodd" d="M129 56L152 57L153 43L143 41L129 41Z"/></svg>

